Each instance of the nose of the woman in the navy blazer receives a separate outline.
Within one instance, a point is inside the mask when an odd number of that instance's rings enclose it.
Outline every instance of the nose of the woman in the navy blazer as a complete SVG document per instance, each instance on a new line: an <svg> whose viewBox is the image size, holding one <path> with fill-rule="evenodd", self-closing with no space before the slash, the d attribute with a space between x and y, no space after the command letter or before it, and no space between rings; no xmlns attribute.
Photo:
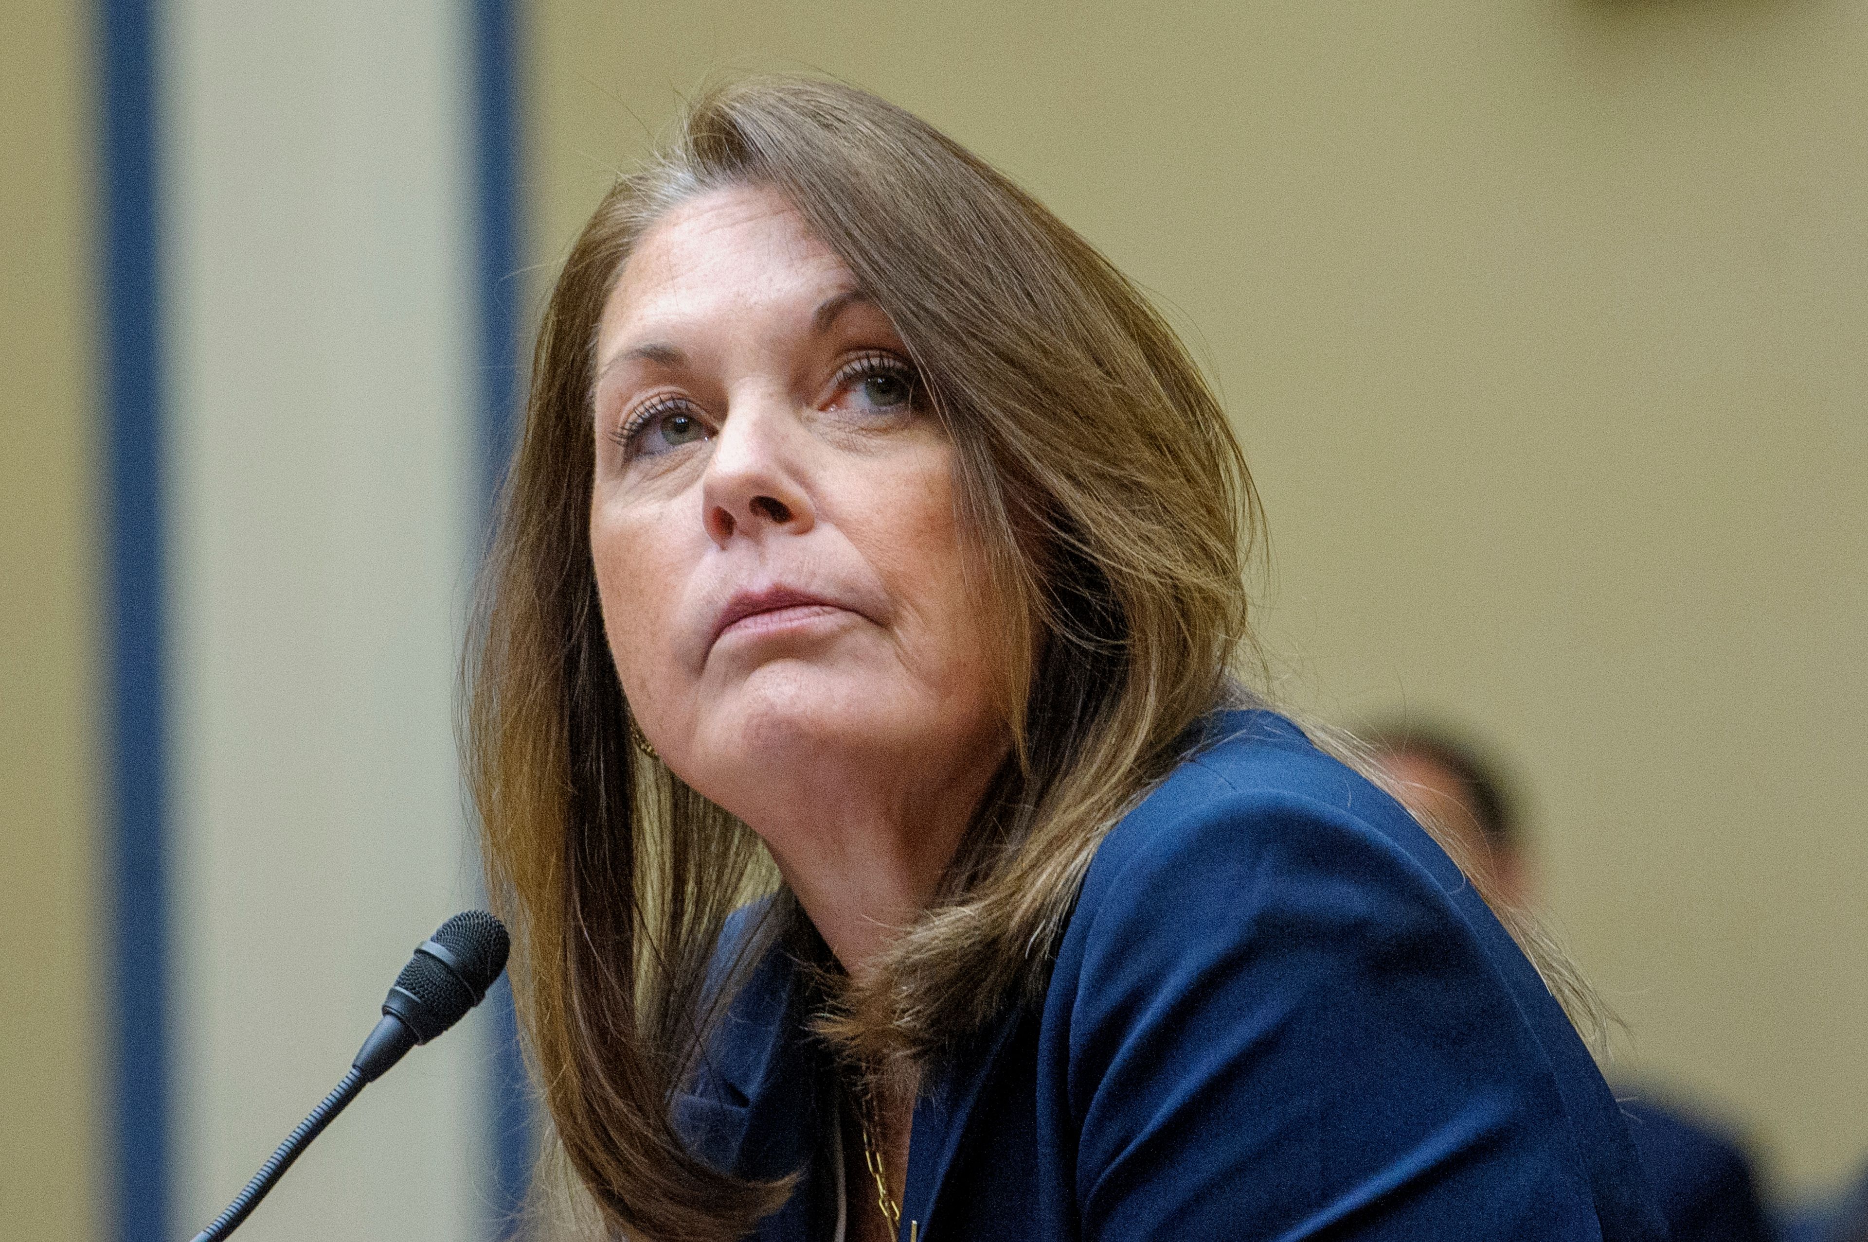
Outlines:
<svg viewBox="0 0 1868 1242"><path fill-rule="evenodd" d="M725 547L734 536L803 534L811 529L814 514L800 484L794 456L798 428L792 424L790 411L775 402L727 413L700 486L702 521L717 545Z"/></svg>

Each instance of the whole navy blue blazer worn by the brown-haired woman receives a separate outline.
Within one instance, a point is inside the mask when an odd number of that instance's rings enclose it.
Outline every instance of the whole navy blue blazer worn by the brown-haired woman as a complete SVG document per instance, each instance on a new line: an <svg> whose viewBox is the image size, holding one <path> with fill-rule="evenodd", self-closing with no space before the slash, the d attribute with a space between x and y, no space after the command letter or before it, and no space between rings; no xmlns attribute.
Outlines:
<svg viewBox="0 0 1868 1242"><path fill-rule="evenodd" d="M902 1238L1663 1238L1616 1100L1532 964L1401 807L1268 712L1104 839L1040 1005L921 1083ZM833 1236L835 1074L768 953L676 1124L798 1173Z"/></svg>

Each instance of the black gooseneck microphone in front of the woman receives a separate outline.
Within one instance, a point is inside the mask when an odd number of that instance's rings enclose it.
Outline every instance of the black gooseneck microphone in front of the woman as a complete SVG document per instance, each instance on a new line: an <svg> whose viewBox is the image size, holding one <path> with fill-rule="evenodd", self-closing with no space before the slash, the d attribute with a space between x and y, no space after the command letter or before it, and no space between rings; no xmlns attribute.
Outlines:
<svg viewBox="0 0 1868 1242"><path fill-rule="evenodd" d="M220 1242L260 1205L273 1184L284 1177L331 1119L357 1098L364 1085L402 1061L417 1044L426 1044L461 1020L486 997L501 971L506 969L510 941L499 919L484 910L458 913L441 924L430 939L415 947L415 956L396 975L396 984L383 1001L383 1020L357 1050L349 1074L325 1096L299 1128L286 1136L271 1160L260 1165L247 1188L234 1197L215 1223L194 1235L194 1242Z"/></svg>

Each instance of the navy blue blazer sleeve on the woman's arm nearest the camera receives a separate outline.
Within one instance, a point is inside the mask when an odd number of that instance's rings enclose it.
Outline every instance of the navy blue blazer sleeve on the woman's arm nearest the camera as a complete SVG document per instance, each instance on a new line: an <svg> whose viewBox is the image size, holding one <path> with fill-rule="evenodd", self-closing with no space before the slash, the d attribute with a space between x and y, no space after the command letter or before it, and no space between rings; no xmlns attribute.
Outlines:
<svg viewBox="0 0 1868 1242"><path fill-rule="evenodd" d="M1104 842L1050 992L1080 1236L1599 1238L1450 872L1334 801L1168 801Z"/></svg>

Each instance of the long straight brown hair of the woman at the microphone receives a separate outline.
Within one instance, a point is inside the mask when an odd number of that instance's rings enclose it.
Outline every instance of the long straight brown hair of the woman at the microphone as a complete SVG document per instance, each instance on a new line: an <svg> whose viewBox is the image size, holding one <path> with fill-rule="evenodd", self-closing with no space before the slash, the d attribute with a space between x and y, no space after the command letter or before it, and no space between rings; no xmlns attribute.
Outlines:
<svg viewBox="0 0 1868 1242"><path fill-rule="evenodd" d="M730 185L783 194L893 319L956 446L956 521L1009 631L1012 756L940 900L835 997L826 1037L919 1061L1037 994L1102 835L1255 661L1252 478L1199 368L1121 273L865 92L757 78L695 103L553 289L465 710L557 1139L609 1229L663 1240L740 1236L788 1192L706 1167L671 1121L721 1003L721 926L777 880L745 826L631 749L588 545L592 355L644 230ZM798 917L781 893L766 923Z"/></svg>

